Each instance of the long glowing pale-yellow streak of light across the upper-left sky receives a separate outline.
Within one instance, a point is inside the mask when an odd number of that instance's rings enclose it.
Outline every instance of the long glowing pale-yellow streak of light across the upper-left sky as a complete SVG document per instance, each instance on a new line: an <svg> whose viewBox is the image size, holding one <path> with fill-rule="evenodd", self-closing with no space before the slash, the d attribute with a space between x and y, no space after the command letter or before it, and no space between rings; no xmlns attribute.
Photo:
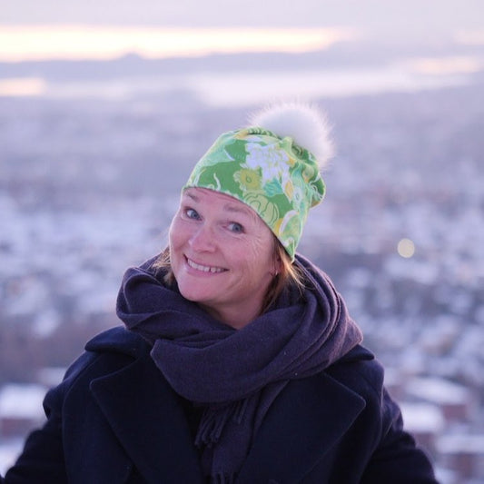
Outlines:
<svg viewBox="0 0 484 484"><path fill-rule="evenodd" d="M351 38L347 29L0 26L0 62L149 58L235 52L306 52Z"/></svg>

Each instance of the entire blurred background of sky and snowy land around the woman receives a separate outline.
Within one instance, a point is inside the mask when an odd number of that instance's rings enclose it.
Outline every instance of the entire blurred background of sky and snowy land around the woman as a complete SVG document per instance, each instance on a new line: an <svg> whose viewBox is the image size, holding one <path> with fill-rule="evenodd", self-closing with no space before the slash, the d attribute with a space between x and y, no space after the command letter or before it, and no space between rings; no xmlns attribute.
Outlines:
<svg viewBox="0 0 484 484"><path fill-rule="evenodd" d="M180 187L263 104L337 153L300 252L331 275L442 483L484 479L480 0L6 1L0 13L0 471L46 389L117 325Z"/></svg>

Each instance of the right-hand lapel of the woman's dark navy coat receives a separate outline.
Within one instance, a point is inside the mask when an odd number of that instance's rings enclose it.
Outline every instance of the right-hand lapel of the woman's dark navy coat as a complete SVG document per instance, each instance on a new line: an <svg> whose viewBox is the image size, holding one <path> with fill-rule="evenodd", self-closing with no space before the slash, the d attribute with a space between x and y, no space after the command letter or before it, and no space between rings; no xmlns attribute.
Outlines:
<svg viewBox="0 0 484 484"><path fill-rule="evenodd" d="M326 373L292 380L265 416L237 482L300 482L364 407L360 395Z"/></svg>

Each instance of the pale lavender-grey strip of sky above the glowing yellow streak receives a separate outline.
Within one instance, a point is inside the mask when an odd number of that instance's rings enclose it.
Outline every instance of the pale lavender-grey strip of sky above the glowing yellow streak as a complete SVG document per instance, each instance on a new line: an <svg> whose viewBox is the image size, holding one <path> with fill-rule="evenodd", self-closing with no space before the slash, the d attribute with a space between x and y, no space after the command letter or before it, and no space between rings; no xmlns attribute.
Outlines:
<svg viewBox="0 0 484 484"><path fill-rule="evenodd" d="M482 0L2 0L1 24L368 27L432 33L484 27Z"/></svg>

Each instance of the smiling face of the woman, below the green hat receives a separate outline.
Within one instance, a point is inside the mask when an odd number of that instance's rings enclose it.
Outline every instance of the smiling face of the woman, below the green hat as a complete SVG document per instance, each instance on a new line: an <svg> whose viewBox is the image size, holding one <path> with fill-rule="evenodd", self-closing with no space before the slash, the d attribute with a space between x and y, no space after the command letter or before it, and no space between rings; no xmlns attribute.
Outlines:
<svg viewBox="0 0 484 484"><path fill-rule="evenodd" d="M261 311L273 274L271 230L250 207L203 188L184 191L170 228L173 275L183 297L242 328Z"/></svg>

